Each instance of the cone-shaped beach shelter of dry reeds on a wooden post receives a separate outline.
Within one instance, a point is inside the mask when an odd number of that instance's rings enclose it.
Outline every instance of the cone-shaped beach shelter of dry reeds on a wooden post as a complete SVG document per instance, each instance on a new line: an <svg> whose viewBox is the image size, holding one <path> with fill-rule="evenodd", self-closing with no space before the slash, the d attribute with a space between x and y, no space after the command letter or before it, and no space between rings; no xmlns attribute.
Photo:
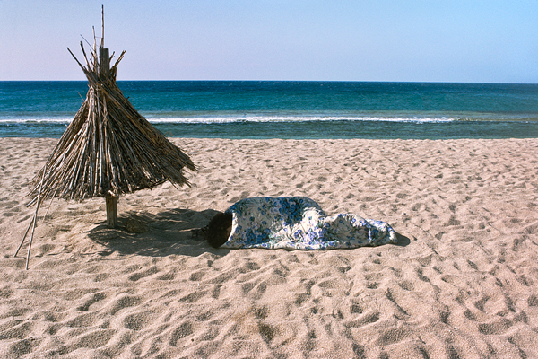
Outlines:
<svg viewBox="0 0 538 359"><path fill-rule="evenodd" d="M81 42L85 66L68 48L88 78L89 90L45 166L30 183L29 206L37 205L36 212L17 253L32 227L30 256L39 205L48 198L105 197L108 227L116 227L118 196L168 180L173 185L190 185L184 169L196 170L187 154L143 118L120 91L117 64L125 51L110 67L114 54L109 56L104 48L104 19L102 31L100 48L94 37L89 57Z"/></svg>

